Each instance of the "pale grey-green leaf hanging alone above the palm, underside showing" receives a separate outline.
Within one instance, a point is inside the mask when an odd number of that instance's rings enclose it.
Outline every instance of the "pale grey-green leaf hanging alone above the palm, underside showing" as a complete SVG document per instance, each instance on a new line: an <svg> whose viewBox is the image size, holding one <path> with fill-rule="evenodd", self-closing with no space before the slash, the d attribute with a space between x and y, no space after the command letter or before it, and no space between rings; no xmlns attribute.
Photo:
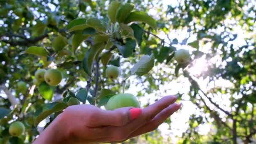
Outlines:
<svg viewBox="0 0 256 144"><path fill-rule="evenodd" d="M154 54L142 56L141 59L131 68L131 75L142 76L147 74L155 64Z"/></svg>

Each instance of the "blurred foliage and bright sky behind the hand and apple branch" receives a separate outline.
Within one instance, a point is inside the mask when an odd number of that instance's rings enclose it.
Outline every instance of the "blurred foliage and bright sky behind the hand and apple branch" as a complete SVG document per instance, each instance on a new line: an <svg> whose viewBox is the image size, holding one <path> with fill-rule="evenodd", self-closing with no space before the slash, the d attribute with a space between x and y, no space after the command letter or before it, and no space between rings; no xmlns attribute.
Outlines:
<svg viewBox="0 0 256 144"><path fill-rule="evenodd" d="M101 64L100 88L120 91L121 81L127 77L133 64L141 56L153 53L155 67L142 77L129 77L125 93L137 96L141 107L162 96L175 94L179 95L178 102L183 104L155 131L124 143L255 144L256 1L121 2L134 3L135 9L147 12L157 20L157 30L140 24L145 33L133 56L124 59L115 53L109 62L120 66L122 76L115 81L107 79ZM31 142L38 135L37 130L41 131L51 117L37 128L29 124L31 117L49 100L42 98L32 86L34 72L42 67L43 59L21 53L31 45L42 46L52 52L53 37L57 33L65 33L69 21L88 17L105 20L108 5L109 0L0 0L0 106L15 110L7 99L8 95L15 96L16 101L26 105L22 111L30 119L24 120L28 128L24 134L25 142ZM53 22L49 23L49 19ZM173 48L189 51L193 59L189 66L181 68L177 65L172 59ZM67 51L70 49L72 46L67 47ZM83 60L87 49L88 41L84 41L70 56L51 62L49 67L58 67L64 75L52 101L61 98L67 88L76 93L86 87L88 76L80 65L72 65L70 61ZM16 93L15 85L19 80L28 83L28 97ZM90 99L86 103L91 104ZM17 117L7 119L0 121L3 131L4 125ZM4 132L0 134L4 135Z"/></svg>

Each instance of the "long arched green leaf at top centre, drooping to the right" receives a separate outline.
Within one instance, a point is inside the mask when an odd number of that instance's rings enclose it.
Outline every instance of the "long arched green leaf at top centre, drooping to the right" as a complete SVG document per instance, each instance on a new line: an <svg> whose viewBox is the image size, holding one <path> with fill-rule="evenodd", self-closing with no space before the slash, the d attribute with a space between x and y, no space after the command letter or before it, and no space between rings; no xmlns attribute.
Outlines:
<svg viewBox="0 0 256 144"><path fill-rule="evenodd" d="M153 29L157 29L157 24L155 19L153 19L151 16L147 15L147 13L143 11L133 11L129 14L129 16L125 19L124 23L128 24L133 21L141 21L146 24L149 24L150 27Z"/></svg>

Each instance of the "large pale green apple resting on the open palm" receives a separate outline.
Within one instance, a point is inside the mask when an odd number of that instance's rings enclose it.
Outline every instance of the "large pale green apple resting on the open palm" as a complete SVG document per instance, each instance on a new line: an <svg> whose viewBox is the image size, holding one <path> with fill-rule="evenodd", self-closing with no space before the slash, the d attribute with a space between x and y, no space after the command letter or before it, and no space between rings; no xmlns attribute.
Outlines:
<svg viewBox="0 0 256 144"><path fill-rule="evenodd" d="M140 107L139 101L130 93L121 93L112 96L105 108L107 110L114 110L121 107Z"/></svg>

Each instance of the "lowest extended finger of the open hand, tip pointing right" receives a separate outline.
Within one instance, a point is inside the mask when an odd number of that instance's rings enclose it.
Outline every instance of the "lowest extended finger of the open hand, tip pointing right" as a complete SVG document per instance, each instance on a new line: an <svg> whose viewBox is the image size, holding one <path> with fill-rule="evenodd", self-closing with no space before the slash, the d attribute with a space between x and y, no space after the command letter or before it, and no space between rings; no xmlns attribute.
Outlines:
<svg viewBox="0 0 256 144"><path fill-rule="evenodd" d="M162 124L168 117L176 112L181 107L181 104L171 104L169 107L163 109L162 112L157 114L149 123L141 126L137 131L133 132L129 138L139 136L141 134L154 131L160 124Z"/></svg>

